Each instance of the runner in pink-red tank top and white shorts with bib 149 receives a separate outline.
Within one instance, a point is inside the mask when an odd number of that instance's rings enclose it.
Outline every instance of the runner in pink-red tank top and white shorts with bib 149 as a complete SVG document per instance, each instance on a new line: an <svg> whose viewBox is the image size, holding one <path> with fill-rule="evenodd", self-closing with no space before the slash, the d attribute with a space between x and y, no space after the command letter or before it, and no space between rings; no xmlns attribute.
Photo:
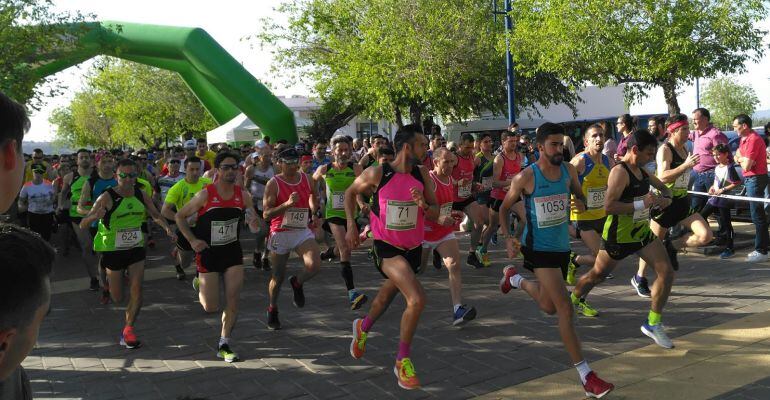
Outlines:
<svg viewBox="0 0 770 400"><path fill-rule="evenodd" d="M278 294L286 274L289 253L294 251L305 264L297 276L290 276L289 283L294 292L294 306L305 306L305 292L302 288L321 266L321 252L315 241L315 234L308 226L317 226L319 210L317 189L299 170L299 153L293 148L278 154L281 173L270 178L265 185L264 217L270 220L270 263L273 276L267 287L270 305L267 307L267 327L281 329L278 320ZM311 216L312 219L311 219Z"/></svg>

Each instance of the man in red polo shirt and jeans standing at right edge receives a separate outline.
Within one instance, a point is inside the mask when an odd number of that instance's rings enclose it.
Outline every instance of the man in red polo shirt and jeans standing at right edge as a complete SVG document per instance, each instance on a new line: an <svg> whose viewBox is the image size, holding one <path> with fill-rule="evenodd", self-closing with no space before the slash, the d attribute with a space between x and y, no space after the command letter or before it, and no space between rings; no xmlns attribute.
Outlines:
<svg viewBox="0 0 770 400"><path fill-rule="evenodd" d="M746 187L746 196L765 197L767 186L767 158L765 142L751 129L751 118L746 114L739 114L733 120L733 129L741 137L738 151L735 153L735 161L743 170L743 184ZM770 236L767 231L767 218L765 217L764 204L756 201L749 202L751 209L751 221L757 231L754 236L754 251L746 257L748 262L762 262L768 260L767 246Z"/></svg>

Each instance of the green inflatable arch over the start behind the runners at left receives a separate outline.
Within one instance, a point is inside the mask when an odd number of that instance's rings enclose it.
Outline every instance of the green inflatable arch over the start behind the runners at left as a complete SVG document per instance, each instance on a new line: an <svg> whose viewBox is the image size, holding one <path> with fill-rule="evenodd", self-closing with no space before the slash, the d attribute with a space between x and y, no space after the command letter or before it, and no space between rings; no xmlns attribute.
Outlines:
<svg viewBox="0 0 770 400"><path fill-rule="evenodd" d="M41 57L39 79L97 55L176 71L221 125L243 112L273 141L297 142L294 114L206 31L117 21L73 24L70 48Z"/></svg>

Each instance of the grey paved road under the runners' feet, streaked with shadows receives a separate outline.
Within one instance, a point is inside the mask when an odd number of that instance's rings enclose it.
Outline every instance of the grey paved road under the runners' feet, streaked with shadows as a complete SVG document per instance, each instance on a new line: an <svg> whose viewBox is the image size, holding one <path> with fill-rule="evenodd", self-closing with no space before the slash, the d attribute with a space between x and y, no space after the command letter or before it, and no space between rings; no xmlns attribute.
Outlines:
<svg viewBox="0 0 770 400"><path fill-rule="evenodd" d="M467 236L461 236L461 248ZM245 240L251 261L253 240ZM244 361L226 364L215 357L219 314L205 314L189 282L173 278L168 243L149 251L144 307L136 332L145 345L117 345L123 308L102 306L85 290L77 256L60 257L55 267L52 311L43 323L37 348L24 362L39 399L331 399L470 398L535 378L570 370L556 319L542 314L523 292L500 294L503 249L493 248L490 268L464 267L465 301L478 317L457 328L451 324L446 271L432 267L421 276L428 294L412 350L424 388L398 388L392 373L403 300L397 299L378 321L366 356L350 357L350 325L361 312L350 311L336 263L324 263L306 284L307 304L291 305L284 286L280 300L283 330L265 325L268 275L248 268L241 312L232 347ZM582 249L580 246L576 246ZM744 251L745 253L745 251ZM721 261L690 253L664 314L676 338L770 309L770 269L746 264L742 257ZM601 314L579 319L586 357L597 361L650 344L639 332L649 301L628 285L636 261L625 261L616 278L596 288L589 299ZM355 252L354 273L370 296L381 282L365 249ZM297 260L291 271L299 268ZM574 371L571 371L574 373ZM611 380L611 374L602 374ZM770 376L770 371L768 371ZM736 388L726 398L770 397L770 380ZM744 397L740 397L744 396Z"/></svg>

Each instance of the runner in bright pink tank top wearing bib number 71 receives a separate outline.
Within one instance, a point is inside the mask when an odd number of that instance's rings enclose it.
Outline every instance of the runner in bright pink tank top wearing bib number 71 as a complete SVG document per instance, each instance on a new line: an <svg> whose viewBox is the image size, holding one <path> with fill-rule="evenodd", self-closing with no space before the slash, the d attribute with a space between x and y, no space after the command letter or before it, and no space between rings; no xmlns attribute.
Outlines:
<svg viewBox="0 0 770 400"><path fill-rule="evenodd" d="M431 190L428 172L420 164L428 148L428 140L419 125L403 126L393 140L396 158L391 163L372 166L359 175L345 192L347 216L346 239L351 249L358 247L360 238L355 217L356 198L372 194L370 222L374 234L375 265L387 279L372 301L369 314L353 321L353 341L350 354L361 358L366 350L366 333L385 312L400 292L406 299L401 318L401 338L394 372L398 385L404 389L420 387L414 365L409 357L417 322L425 307L425 291L415 276L420 268L424 214L436 220L439 209Z"/></svg>

